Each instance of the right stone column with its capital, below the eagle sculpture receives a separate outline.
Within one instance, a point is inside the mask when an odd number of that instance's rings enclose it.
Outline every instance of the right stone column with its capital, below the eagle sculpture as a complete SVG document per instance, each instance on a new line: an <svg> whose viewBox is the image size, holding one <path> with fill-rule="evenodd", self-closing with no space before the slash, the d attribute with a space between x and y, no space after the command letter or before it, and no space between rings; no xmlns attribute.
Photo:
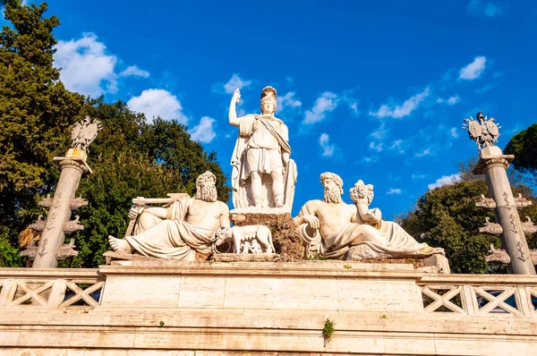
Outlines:
<svg viewBox="0 0 537 356"><path fill-rule="evenodd" d="M503 155L497 146L482 148L480 160L473 173L485 174L490 197L496 202L494 216L503 229L502 247L511 259L507 265L508 272L516 275L535 275L530 249L524 236L520 216L518 216L511 185L507 179L507 167L514 158L512 155Z"/></svg>

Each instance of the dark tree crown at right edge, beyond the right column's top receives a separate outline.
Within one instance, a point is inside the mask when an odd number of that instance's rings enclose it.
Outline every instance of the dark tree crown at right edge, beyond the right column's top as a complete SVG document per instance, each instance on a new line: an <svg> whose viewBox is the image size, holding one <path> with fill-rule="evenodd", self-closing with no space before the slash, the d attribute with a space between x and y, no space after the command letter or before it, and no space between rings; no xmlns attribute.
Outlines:
<svg viewBox="0 0 537 356"><path fill-rule="evenodd" d="M515 155L513 166L517 170L537 176L537 123L513 136L505 153Z"/></svg>

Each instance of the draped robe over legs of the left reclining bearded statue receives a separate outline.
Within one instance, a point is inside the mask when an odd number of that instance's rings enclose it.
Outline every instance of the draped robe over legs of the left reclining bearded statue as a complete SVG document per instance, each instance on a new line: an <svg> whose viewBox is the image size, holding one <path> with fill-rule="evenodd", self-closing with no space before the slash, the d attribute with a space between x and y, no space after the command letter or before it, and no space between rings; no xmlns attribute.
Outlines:
<svg viewBox="0 0 537 356"><path fill-rule="evenodd" d="M166 220L142 213L136 234L126 236L125 240L141 255L159 259L195 260L196 251L204 254L214 251L215 232L184 221L190 199L185 197L166 208Z"/></svg>

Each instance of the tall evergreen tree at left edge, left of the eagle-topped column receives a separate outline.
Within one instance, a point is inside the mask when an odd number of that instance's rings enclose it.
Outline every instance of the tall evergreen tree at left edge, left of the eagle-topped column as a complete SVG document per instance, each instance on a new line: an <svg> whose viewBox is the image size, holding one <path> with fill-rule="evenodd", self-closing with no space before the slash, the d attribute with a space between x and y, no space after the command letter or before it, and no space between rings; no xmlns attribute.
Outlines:
<svg viewBox="0 0 537 356"><path fill-rule="evenodd" d="M57 176L53 157L66 148L64 132L83 97L64 88L53 66L52 31L59 21L43 16L47 4L3 4L13 28L3 26L0 33L0 246L13 246L16 233L36 217L21 207L49 190ZM10 260L4 263L18 263Z"/></svg>

